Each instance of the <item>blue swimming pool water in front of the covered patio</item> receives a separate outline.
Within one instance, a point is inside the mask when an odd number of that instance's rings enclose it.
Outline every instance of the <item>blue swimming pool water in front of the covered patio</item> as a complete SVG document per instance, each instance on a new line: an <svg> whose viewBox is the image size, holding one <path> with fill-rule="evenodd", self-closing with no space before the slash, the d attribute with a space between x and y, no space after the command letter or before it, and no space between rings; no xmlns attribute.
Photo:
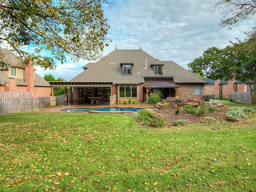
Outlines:
<svg viewBox="0 0 256 192"><path fill-rule="evenodd" d="M100 111L100 112L111 112L111 111L123 111L123 112L138 112L143 108L129 108L129 107L104 107L104 108L74 108L64 109L62 112L89 112L89 111Z"/></svg>

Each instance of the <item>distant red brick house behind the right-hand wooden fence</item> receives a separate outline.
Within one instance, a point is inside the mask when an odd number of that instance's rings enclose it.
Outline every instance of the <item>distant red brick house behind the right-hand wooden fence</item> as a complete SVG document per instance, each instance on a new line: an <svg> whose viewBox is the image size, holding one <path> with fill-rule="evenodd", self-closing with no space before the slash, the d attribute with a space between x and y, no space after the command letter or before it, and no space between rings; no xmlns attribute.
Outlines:
<svg viewBox="0 0 256 192"><path fill-rule="evenodd" d="M211 95L214 98L230 98L231 91L236 92L249 92L249 88L247 83L240 82L237 80L227 80L224 78L222 80L212 80L205 79L205 81L209 82L205 85L204 94Z"/></svg>

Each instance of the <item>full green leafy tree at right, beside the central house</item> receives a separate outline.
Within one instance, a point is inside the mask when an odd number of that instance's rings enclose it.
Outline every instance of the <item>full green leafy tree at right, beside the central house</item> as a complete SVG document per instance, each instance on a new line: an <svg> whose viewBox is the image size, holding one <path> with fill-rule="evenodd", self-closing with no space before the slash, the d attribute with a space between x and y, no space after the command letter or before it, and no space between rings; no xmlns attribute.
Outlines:
<svg viewBox="0 0 256 192"><path fill-rule="evenodd" d="M256 31L250 32L244 41L231 42L226 48L208 48L203 56L188 64L194 74L217 80L239 80L247 82L256 104Z"/></svg>

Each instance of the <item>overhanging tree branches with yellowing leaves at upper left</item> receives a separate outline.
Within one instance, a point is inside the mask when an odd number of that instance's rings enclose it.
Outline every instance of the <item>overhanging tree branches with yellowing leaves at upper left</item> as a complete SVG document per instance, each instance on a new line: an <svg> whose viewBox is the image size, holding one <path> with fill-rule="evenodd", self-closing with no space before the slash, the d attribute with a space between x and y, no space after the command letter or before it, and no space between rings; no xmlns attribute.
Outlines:
<svg viewBox="0 0 256 192"><path fill-rule="evenodd" d="M107 0L1 0L0 44L45 69L54 68L56 60L65 62L67 55L74 61L97 59L111 41L102 3ZM22 50L26 45L34 52Z"/></svg>

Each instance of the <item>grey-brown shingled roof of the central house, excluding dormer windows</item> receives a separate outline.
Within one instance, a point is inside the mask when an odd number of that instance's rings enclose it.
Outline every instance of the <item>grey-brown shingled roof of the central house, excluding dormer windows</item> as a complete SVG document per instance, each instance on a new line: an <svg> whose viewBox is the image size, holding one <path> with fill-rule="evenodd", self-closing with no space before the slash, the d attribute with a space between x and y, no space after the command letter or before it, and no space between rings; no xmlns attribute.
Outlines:
<svg viewBox="0 0 256 192"><path fill-rule="evenodd" d="M122 75L121 63L133 64L132 75ZM162 75L155 75L153 65L162 65ZM114 50L96 63L83 66L84 71L69 82L113 82L140 84L144 78L173 78L175 83L207 83L173 61L160 61L143 50Z"/></svg>

